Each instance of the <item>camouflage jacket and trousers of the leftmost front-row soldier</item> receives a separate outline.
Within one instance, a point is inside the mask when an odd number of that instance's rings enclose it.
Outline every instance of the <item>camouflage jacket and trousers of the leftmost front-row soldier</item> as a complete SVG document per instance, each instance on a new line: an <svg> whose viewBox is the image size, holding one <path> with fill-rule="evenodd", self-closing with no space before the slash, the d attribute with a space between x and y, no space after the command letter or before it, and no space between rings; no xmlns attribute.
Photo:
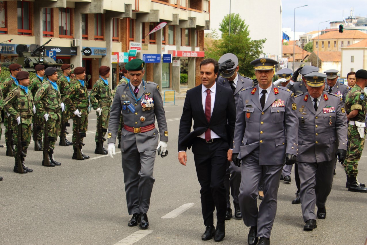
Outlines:
<svg viewBox="0 0 367 245"><path fill-rule="evenodd" d="M27 154L27 148L30 143L30 136L32 134L32 116L33 116L33 96L30 91L25 92L21 87L17 87L11 90L4 100L4 108L10 114L10 119L13 119L13 126L17 125L17 118L21 117L22 122L22 140L26 142L26 145L22 148L22 151ZM14 127L13 138L15 144L15 162L17 166L18 162L18 127ZM25 156L24 156L25 158ZM23 163L24 164L24 163ZM14 167L15 170L15 167Z"/></svg>

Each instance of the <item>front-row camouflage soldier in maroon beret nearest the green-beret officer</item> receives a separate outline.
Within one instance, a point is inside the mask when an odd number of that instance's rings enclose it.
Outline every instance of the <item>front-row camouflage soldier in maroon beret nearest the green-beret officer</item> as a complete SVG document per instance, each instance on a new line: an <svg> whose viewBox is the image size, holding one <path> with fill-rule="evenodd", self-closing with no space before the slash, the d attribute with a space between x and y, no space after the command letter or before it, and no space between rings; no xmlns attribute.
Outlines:
<svg viewBox="0 0 367 245"><path fill-rule="evenodd" d="M108 86L108 78L110 77L110 68L108 66L102 65L99 68L99 79L94 83L93 89L90 93L90 101L93 109L97 112L97 130L95 131L95 144L96 148L94 153L99 154L99 136L98 129L102 127L103 129L108 128L108 120L110 118L110 109L112 104L112 92L110 87ZM102 117L102 123L99 125L99 117ZM105 137L106 133L102 135L102 141L106 141ZM102 142L102 144L103 144ZM107 150L103 147L103 155L107 155Z"/></svg>

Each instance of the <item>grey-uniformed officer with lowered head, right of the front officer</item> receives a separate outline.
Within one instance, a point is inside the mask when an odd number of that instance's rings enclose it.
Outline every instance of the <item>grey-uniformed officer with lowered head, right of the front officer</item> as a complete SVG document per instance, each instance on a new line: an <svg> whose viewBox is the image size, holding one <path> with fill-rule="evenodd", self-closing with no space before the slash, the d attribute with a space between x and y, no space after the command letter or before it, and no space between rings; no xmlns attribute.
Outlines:
<svg viewBox="0 0 367 245"><path fill-rule="evenodd" d="M305 76L308 92L296 96L298 128L298 173L304 230L316 228L317 217L326 218L325 203L333 184L335 159L344 162L347 119L342 98L324 90L325 74Z"/></svg>

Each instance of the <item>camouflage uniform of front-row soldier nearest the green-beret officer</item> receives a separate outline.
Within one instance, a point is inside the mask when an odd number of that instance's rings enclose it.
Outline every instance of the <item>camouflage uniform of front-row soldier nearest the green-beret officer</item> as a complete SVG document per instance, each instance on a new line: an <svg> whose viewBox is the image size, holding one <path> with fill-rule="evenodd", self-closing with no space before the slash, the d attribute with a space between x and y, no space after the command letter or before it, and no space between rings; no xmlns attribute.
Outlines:
<svg viewBox="0 0 367 245"><path fill-rule="evenodd" d="M112 92L108 84L106 84L101 78L95 82L93 89L90 93L90 100L93 109L98 107L102 108L102 128L108 128L108 119L110 118L110 109L112 104ZM97 102L98 100L98 102ZM97 113L97 130L95 131L94 141L98 142L98 129L99 129L99 115ZM103 133L102 137L105 137L106 133ZM105 140L103 140L104 142Z"/></svg>

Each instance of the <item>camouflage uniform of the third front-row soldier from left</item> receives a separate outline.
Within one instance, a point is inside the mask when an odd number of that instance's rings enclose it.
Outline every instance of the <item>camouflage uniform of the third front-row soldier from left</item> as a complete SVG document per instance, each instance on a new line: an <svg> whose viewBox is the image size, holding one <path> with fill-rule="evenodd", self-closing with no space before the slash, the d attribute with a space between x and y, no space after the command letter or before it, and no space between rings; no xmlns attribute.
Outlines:
<svg viewBox="0 0 367 245"><path fill-rule="evenodd" d="M70 115L73 117L73 147L76 147L76 120L77 116L73 114L76 109L81 113L80 115L80 132L86 133L88 129L88 91L87 84L84 87L81 85L79 80L70 83L69 89L66 92L65 104L68 104L70 109ZM81 137L81 142L83 142L83 137Z"/></svg>

